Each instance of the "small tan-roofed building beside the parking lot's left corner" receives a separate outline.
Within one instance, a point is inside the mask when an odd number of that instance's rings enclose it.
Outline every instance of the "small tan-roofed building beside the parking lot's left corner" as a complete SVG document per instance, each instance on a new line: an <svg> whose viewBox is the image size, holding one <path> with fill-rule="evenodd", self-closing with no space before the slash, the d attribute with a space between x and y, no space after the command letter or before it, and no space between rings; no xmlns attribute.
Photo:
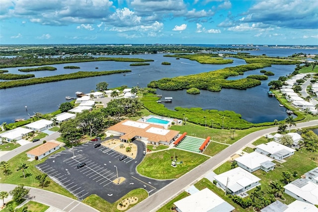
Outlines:
<svg viewBox="0 0 318 212"><path fill-rule="evenodd" d="M44 144L41 144L38 147L35 147L34 149L28 151L26 153L27 157L29 158L35 158L36 156L38 157L38 159L42 159L45 156L51 154L52 152L57 151L58 149L60 149L60 144L56 143L56 142L46 142Z"/></svg>

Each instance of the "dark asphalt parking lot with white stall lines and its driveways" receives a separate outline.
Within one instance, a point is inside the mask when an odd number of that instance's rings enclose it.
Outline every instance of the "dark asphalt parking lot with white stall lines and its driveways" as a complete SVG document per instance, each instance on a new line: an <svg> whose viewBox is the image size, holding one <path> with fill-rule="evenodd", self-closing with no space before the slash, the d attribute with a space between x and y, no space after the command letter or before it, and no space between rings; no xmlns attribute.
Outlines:
<svg viewBox="0 0 318 212"><path fill-rule="evenodd" d="M88 142L51 155L37 168L79 200L96 194L113 203L137 188L143 188L151 195L171 180L157 181L136 173L136 166L144 158L145 144L137 140L134 143L138 146L135 159L127 157L120 161L121 153L105 146L94 148L96 142ZM86 165L78 168L80 163ZM117 184L117 172L119 180L125 178L120 184Z"/></svg>

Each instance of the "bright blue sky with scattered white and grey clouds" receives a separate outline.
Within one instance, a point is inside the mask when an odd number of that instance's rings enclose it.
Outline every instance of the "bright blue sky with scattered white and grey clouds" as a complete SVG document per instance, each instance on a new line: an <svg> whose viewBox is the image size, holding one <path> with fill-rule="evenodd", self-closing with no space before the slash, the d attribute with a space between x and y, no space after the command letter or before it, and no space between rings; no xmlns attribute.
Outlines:
<svg viewBox="0 0 318 212"><path fill-rule="evenodd" d="M1 0L0 44L318 45L318 0Z"/></svg>

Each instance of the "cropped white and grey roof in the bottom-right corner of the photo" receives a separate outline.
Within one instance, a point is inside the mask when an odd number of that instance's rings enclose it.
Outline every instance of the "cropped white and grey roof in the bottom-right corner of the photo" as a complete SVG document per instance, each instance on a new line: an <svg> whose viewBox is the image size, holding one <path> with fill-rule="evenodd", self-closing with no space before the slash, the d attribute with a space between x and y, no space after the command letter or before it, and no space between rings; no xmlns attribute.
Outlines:
<svg viewBox="0 0 318 212"><path fill-rule="evenodd" d="M283 204L280 201L266 206L261 212L318 212L318 208L310 203L305 203L299 200L295 200L289 205Z"/></svg>

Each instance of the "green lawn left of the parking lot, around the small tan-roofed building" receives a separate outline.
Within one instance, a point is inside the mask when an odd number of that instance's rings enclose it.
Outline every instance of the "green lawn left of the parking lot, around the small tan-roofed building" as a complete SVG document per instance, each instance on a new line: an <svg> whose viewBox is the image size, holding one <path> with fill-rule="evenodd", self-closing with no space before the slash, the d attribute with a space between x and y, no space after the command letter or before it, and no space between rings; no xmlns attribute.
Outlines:
<svg viewBox="0 0 318 212"><path fill-rule="evenodd" d="M0 183L8 183L8 184L16 184L16 185L23 184L24 186L40 188L40 189L48 190L51 192L55 192L55 193L76 199L66 189L62 188L57 183L55 183L53 180L49 179L49 177L47 178L50 181L49 186L46 188L39 187L39 183L35 179L35 177L37 175L40 175L43 173L41 171L39 171L37 168L35 168L35 165L37 165L39 163L43 163L48 158L48 156L41 159L41 160L33 160L30 162L30 161L27 161L29 158L26 156L26 152L29 150L31 150L31 149L28 149L25 152L22 152L21 154L16 155L15 157L11 158L8 161L9 169L11 170L12 173L10 175L3 175L3 173L0 172ZM58 151L56 151L52 154L55 154L55 153L60 152L62 150L65 150L65 148L62 147ZM26 165L28 166L28 168L24 170L26 178L23 178L23 174L22 174L21 170L17 171L17 167L22 162L26 163Z"/></svg>

